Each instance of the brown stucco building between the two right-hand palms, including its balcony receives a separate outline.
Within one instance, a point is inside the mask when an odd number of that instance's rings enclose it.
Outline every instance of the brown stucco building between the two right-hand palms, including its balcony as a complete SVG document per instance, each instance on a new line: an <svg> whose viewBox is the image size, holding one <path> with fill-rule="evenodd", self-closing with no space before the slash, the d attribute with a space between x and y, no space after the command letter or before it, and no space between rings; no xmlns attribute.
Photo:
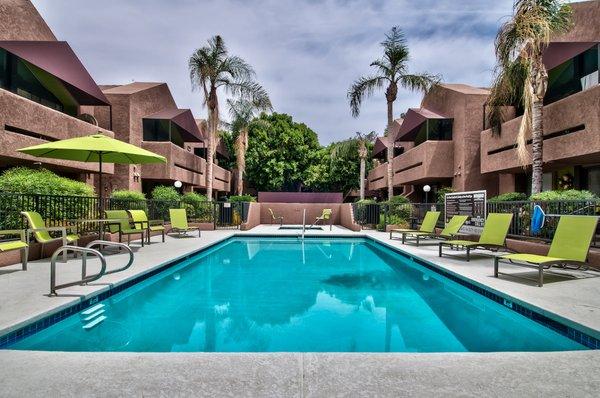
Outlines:
<svg viewBox="0 0 600 398"><path fill-rule="evenodd" d="M434 190L451 186L458 191L487 189L495 193L497 177L485 178L480 169L479 147L488 94L485 89L464 84L441 84L424 96L420 109L452 120L451 140L426 140L415 145L403 135L402 124L407 119L392 125L389 137L402 150L393 160L396 191L413 200L422 199L426 184ZM383 163L370 171L370 191L386 189L386 169L387 163Z"/></svg>

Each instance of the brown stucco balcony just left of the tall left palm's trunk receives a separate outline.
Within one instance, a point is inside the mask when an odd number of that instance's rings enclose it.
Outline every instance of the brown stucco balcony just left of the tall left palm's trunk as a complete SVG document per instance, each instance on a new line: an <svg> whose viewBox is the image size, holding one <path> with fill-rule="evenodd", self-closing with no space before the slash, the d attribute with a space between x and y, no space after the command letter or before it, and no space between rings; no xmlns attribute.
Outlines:
<svg viewBox="0 0 600 398"><path fill-rule="evenodd" d="M206 161L171 142L143 141L142 148L167 158L166 164L142 165L141 177L147 180L181 181L185 185L206 187Z"/></svg>

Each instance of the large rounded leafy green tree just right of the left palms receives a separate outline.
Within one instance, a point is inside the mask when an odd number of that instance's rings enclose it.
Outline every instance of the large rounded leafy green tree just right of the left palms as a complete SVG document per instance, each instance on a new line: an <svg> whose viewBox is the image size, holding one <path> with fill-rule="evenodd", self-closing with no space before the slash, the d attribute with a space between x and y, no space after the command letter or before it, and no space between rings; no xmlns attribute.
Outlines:
<svg viewBox="0 0 600 398"><path fill-rule="evenodd" d="M261 114L248 130L246 177L259 191L300 191L320 149L317 134L290 115Z"/></svg>

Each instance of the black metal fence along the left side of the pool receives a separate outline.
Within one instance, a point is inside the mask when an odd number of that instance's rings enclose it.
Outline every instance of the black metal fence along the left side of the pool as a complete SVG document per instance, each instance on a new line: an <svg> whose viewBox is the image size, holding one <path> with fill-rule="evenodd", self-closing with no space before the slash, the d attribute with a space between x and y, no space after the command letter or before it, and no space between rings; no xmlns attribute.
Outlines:
<svg viewBox="0 0 600 398"><path fill-rule="evenodd" d="M0 230L21 229L26 225L22 211L40 213L48 226L72 224L71 220L99 219L100 200L91 196L35 195L0 192ZM169 209L185 208L191 221L214 223L215 227L237 228L246 221L249 204L245 202L187 202L161 200L104 199L107 210L144 210L150 220L169 219ZM84 225L81 226L82 228ZM89 226L94 230L94 226Z"/></svg>

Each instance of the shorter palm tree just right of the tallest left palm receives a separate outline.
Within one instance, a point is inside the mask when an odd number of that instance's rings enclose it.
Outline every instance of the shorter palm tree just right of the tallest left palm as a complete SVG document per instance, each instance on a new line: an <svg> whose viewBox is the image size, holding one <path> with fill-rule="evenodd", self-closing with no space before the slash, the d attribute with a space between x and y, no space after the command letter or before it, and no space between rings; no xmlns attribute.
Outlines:
<svg viewBox="0 0 600 398"><path fill-rule="evenodd" d="M255 119L260 111L271 111L273 106L269 96L264 93L254 100L227 100L231 116L230 128L234 134L235 158L237 163L236 195L242 195L244 189L244 172L246 170L246 150L248 149L248 131L251 123L268 124L266 120Z"/></svg>

